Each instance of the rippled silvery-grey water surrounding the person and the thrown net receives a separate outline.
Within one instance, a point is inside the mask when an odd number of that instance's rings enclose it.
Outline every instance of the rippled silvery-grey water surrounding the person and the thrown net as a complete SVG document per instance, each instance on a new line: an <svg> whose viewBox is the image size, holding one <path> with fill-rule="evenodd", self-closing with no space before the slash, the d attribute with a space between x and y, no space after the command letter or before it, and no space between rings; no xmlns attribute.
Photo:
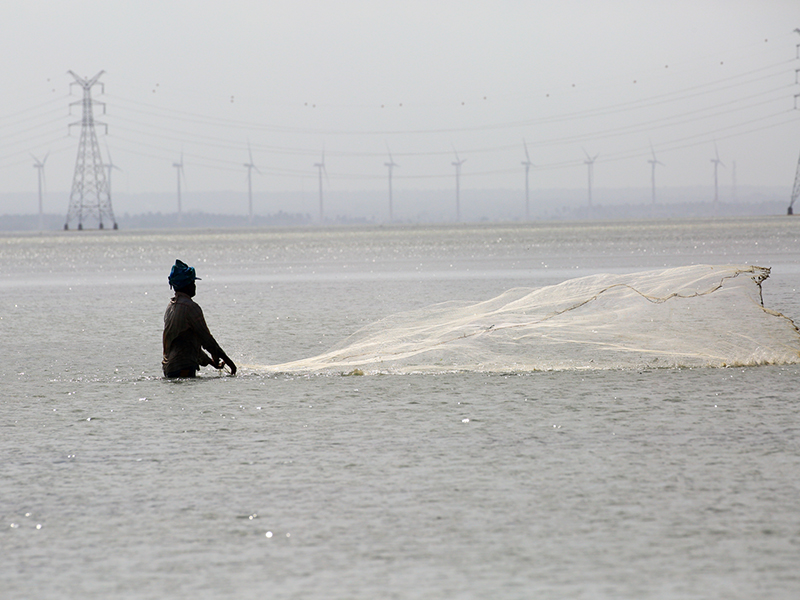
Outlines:
<svg viewBox="0 0 800 600"><path fill-rule="evenodd" d="M236 377L162 379L176 258ZM6 234L0 597L797 598L800 356L270 366L436 303L698 264L770 267L797 320L798 258L787 217Z"/></svg>

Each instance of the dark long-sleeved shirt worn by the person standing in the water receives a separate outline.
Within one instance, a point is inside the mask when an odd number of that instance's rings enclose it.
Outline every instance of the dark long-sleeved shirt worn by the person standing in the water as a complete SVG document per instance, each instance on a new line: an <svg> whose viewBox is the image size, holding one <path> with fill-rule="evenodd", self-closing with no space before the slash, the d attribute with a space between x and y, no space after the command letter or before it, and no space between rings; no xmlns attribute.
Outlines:
<svg viewBox="0 0 800 600"><path fill-rule="evenodd" d="M167 306L162 341L164 375L183 370L194 373L201 366L211 364L202 348L213 357L225 354L208 330L203 309L183 292L175 292Z"/></svg>

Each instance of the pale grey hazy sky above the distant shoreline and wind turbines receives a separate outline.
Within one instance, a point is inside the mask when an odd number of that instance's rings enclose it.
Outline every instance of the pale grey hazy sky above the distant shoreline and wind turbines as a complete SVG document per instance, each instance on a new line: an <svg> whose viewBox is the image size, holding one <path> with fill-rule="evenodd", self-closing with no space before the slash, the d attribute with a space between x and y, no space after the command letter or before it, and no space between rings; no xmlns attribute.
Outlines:
<svg viewBox="0 0 800 600"><path fill-rule="evenodd" d="M80 88L114 189L332 190L713 184L791 187L797 0L11 0L0 4L0 192L68 191ZM71 135L68 135L71 132Z"/></svg>

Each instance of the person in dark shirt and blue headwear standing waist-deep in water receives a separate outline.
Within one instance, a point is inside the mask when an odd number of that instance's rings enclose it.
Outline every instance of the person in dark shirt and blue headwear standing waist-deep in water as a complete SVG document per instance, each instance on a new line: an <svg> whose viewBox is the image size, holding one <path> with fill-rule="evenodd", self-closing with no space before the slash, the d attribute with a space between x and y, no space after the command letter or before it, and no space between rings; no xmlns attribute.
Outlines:
<svg viewBox="0 0 800 600"><path fill-rule="evenodd" d="M235 375L236 365L208 330L203 309L192 300L197 292L196 279L200 278L195 275L194 267L175 261L169 274L169 287L175 290L175 297L164 314L164 358L161 361L164 376L194 377L205 365L215 369L228 365L231 375Z"/></svg>

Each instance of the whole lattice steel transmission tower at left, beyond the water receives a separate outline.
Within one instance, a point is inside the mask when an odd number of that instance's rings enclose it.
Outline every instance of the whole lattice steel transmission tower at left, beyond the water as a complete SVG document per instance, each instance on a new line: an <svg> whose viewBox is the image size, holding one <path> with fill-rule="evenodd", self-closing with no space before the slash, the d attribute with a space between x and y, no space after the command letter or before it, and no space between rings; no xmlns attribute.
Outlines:
<svg viewBox="0 0 800 600"><path fill-rule="evenodd" d="M92 100L92 87L97 85L100 76L105 71L100 71L91 79L78 77L72 71L69 72L75 78L70 84L80 85L83 88L83 99L73 102L70 106L80 104L83 108L83 116L80 121L70 123L81 126L81 138L78 142L78 156L75 159L75 175L72 178L72 191L69 194L69 209L67 210L67 220L64 229L69 229L70 223L78 222L78 229L83 229L83 224L87 218L97 219L97 227L103 229L105 224L113 223L114 229L118 229L117 220L114 218L114 210L111 208L111 190L106 178L106 169L103 158L100 155L100 145L97 143L97 132L95 125L102 125L108 133L108 125L94 120L94 104L103 106L105 114L105 102ZM100 83L102 91L105 88Z"/></svg>

